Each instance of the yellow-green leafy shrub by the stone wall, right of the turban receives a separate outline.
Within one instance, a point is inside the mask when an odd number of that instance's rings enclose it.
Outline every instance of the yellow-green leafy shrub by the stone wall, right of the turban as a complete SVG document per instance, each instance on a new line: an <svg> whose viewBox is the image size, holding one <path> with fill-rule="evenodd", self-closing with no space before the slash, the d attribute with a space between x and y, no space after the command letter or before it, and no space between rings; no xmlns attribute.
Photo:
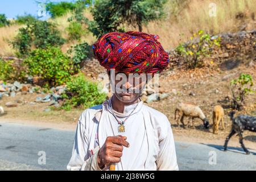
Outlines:
<svg viewBox="0 0 256 182"><path fill-rule="evenodd" d="M191 37L191 42L180 44L176 51L187 61L188 68L201 67L204 64L204 58L211 55L213 46L220 47L220 42L220 37L212 38L200 30Z"/></svg>

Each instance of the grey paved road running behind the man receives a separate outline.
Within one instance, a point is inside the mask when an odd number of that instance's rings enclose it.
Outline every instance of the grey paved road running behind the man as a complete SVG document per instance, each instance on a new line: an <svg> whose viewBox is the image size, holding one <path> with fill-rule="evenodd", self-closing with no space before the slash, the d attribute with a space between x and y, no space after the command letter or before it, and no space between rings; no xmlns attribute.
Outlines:
<svg viewBox="0 0 256 182"><path fill-rule="evenodd" d="M74 131L11 123L0 125L0 170L65 170L71 157ZM46 152L46 164L38 164L42 156L39 151ZM176 142L176 151L180 170L256 170L253 150L245 155L241 148L224 152L222 146Z"/></svg>

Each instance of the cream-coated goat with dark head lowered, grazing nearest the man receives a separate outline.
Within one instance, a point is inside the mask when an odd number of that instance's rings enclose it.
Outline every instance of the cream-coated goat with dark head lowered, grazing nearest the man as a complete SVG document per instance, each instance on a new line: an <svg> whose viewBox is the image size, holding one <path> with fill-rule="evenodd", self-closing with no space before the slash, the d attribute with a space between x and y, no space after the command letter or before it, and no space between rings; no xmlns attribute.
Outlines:
<svg viewBox="0 0 256 182"><path fill-rule="evenodd" d="M186 117L192 118L192 127L195 127L194 126L194 118L200 118L204 123L204 127L206 129L209 128L209 121L205 117L203 111L200 109L199 106L196 106L193 104L185 104L183 102L179 103L175 110L175 120L176 120L177 111L179 112L179 115L181 115L180 122L183 124L184 127L185 127L185 125L184 125L183 119L186 116ZM189 126L189 122L190 121L188 121L188 126ZM179 118L177 119L177 126L180 127Z"/></svg>

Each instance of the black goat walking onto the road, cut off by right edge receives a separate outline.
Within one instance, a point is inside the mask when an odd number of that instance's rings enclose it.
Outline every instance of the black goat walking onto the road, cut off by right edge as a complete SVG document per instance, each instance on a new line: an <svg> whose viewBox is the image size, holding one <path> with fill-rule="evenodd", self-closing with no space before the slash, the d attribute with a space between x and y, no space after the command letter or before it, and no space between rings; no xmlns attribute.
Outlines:
<svg viewBox="0 0 256 182"><path fill-rule="evenodd" d="M239 136L239 142L243 148L243 150L246 152L246 154L250 154L250 152L245 148L245 145L243 144L243 130L249 130L256 132L256 117L250 116L250 115L238 115L237 117L234 117L235 111L231 111L229 113L229 117L232 120L232 129L228 135L228 137L225 140L224 144L224 151L226 151L228 147L229 139L234 135L238 134Z"/></svg>

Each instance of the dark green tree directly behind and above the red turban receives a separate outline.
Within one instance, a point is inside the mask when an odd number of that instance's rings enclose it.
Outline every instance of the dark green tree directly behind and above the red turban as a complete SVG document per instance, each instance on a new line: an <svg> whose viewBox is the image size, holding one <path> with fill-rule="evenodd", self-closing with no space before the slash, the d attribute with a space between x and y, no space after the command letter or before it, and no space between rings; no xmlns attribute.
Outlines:
<svg viewBox="0 0 256 182"><path fill-rule="evenodd" d="M99 0L92 9L94 21L90 31L100 37L110 31L125 31L123 24L131 24L142 31L143 24L164 16L167 0Z"/></svg>

